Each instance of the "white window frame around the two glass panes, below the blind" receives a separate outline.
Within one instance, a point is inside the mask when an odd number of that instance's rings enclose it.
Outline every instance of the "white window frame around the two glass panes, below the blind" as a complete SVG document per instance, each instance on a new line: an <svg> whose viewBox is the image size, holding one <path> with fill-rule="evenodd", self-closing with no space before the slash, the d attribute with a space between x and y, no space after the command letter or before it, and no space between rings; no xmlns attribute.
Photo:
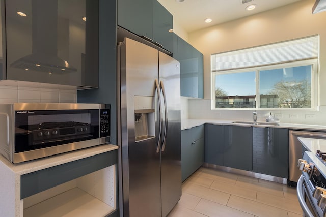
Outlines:
<svg viewBox="0 0 326 217"><path fill-rule="evenodd" d="M311 108L259 108L260 107L260 93L259 93L259 72L262 70L273 70L281 68L299 67L311 65ZM216 108L215 97L215 81L216 75L221 74L233 74L233 73L245 73L255 71L255 83L256 83L256 107L255 108ZM211 72L211 110L282 110L282 111L316 111L319 105L319 65L318 58L311 58L306 60L290 61L287 63L271 64L265 66L222 70L218 72Z"/></svg>

